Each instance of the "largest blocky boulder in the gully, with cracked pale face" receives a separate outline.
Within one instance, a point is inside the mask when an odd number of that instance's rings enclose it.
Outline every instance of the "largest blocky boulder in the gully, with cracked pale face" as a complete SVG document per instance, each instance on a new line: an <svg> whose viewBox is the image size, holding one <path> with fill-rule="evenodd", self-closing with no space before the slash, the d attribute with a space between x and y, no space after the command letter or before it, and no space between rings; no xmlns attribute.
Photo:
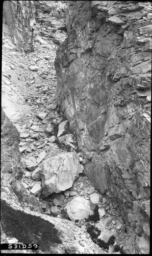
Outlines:
<svg viewBox="0 0 152 256"><path fill-rule="evenodd" d="M76 152L55 156L51 154L40 166L43 197L70 188L74 180L83 172Z"/></svg>

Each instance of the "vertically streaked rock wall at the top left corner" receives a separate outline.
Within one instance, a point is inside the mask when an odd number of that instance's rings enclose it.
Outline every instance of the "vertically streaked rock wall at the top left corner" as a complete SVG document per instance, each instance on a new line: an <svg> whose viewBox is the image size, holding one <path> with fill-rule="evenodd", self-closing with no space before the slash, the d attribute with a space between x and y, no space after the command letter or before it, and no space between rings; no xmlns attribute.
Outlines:
<svg viewBox="0 0 152 256"><path fill-rule="evenodd" d="M4 1L3 15L17 50L33 51L35 6L33 1Z"/></svg>

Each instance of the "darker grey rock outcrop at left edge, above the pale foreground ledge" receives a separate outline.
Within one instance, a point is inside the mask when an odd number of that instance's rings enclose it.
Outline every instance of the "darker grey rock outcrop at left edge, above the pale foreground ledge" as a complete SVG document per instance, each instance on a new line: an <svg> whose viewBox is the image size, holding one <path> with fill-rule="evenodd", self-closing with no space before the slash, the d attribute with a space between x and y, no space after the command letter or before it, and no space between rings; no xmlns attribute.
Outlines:
<svg viewBox="0 0 152 256"><path fill-rule="evenodd" d="M5 112L1 112L1 179L11 183L22 178L23 165L18 148L19 133Z"/></svg>

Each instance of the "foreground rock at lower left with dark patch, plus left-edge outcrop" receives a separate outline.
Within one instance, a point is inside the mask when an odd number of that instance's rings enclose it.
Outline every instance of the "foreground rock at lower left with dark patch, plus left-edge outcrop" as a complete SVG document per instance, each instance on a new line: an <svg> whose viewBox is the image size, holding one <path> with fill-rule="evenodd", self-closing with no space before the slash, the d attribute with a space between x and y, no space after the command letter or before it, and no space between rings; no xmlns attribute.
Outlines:
<svg viewBox="0 0 152 256"><path fill-rule="evenodd" d="M21 179L22 176L18 143L19 133L2 110L1 242L37 242L40 245L39 253L107 254L92 242L85 230L75 226L71 221L41 213L38 199L30 195L30 191L26 188L28 186L25 187L22 181L16 180ZM62 201L63 197L57 198ZM2 252L10 253L6 250ZM33 251L11 250L11 253L33 253Z"/></svg>

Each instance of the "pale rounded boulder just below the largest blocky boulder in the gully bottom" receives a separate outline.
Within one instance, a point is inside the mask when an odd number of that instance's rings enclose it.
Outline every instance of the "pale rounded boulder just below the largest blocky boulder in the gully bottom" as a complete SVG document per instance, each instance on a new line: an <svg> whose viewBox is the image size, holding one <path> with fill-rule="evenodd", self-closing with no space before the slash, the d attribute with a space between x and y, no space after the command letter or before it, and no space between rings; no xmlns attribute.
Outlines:
<svg viewBox="0 0 152 256"><path fill-rule="evenodd" d="M89 200L83 197L75 197L66 205L67 215L72 220L88 219L89 215L93 215L93 211L90 208Z"/></svg>

